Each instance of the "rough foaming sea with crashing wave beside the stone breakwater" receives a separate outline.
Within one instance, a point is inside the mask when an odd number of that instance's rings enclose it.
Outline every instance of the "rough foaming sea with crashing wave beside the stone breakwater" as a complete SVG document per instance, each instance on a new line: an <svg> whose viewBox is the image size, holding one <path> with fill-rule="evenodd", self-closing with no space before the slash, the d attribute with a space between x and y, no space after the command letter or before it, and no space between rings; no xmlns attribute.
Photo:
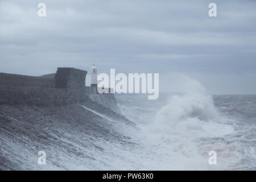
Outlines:
<svg viewBox="0 0 256 182"><path fill-rule="evenodd" d="M122 114L139 128L130 135L148 152L141 169L256 170L256 95L211 96L201 90L160 93L158 100L116 97ZM216 164L209 164L210 151L217 154Z"/></svg>

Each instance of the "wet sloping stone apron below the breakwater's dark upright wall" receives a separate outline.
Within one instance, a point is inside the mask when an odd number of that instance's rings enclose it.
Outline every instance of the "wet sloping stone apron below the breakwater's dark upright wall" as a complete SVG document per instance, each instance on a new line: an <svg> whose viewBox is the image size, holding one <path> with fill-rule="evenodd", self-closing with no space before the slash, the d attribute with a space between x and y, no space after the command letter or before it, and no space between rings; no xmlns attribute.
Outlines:
<svg viewBox="0 0 256 182"><path fill-rule="evenodd" d="M66 106L0 105L0 170L117 169L123 152L137 146L130 130L136 130L133 122L90 100ZM46 165L38 164L39 151L46 152Z"/></svg>

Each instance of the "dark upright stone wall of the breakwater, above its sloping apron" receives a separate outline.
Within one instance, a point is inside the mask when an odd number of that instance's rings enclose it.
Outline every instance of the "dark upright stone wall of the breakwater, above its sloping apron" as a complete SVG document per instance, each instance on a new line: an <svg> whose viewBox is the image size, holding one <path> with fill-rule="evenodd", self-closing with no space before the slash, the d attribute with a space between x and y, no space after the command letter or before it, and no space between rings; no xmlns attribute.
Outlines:
<svg viewBox="0 0 256 182"><path fill-rule="evenodd" d="M57 68L43 77L0 73L0 105L65 106L90 99L120 113L114 94L85 86L86 74L75 68Z"/></svg>

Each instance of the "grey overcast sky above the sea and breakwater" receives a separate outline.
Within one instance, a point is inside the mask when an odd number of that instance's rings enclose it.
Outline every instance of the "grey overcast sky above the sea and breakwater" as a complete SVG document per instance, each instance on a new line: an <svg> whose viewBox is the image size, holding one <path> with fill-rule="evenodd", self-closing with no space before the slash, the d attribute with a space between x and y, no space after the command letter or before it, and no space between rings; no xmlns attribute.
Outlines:
<svg viewBox="0 0 256 182"><path fill-rule="evenodd" d="M256 94L255 9L254 0L1 0L0 72L96 64L98 72L159 73L160 91L175 90L172 76L184 74L212 94Z"/></svg>

